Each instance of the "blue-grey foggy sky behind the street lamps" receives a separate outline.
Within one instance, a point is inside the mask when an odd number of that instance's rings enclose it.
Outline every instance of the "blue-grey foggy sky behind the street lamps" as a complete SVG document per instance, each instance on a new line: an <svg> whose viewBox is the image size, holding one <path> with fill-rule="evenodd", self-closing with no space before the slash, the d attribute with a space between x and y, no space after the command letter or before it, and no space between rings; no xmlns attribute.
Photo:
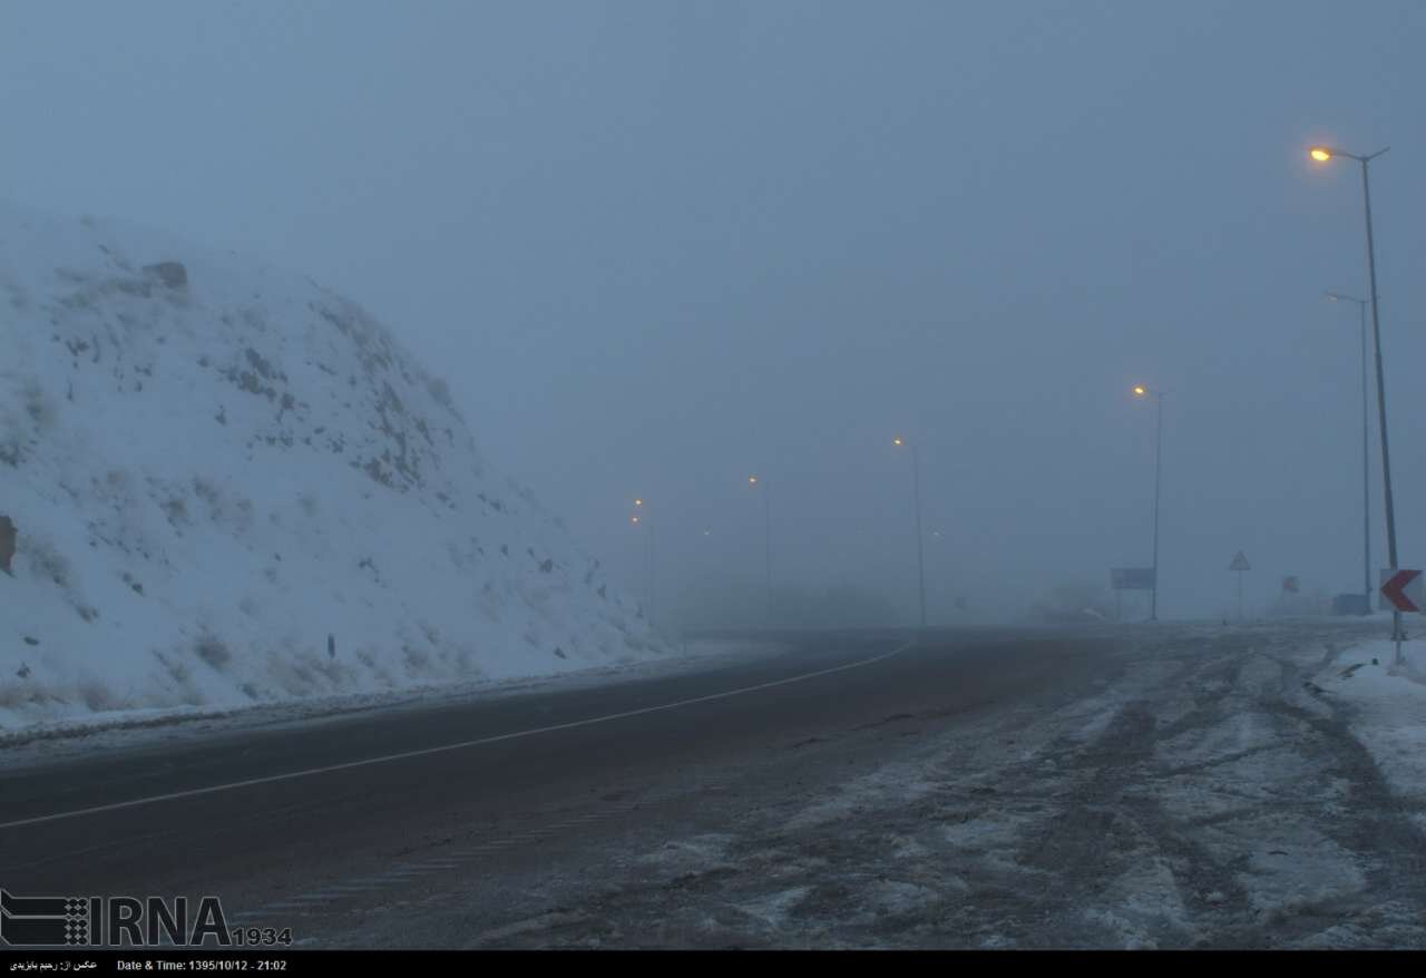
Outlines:
<svg viewBox="0 0 1426 978"><path fill-rule="evenodd" d="M933 619L1147 565L1164 616L1358 590L1372 164L1403 566L1426 560L1426 6L0 0L0 194L305 271L643 589ZM1385 565L1373 418L1373 563ZM704 535L709 530L709 535ZM938 536L933 536L938 533ZM682 585L680 585L682 582Z"/></svg>

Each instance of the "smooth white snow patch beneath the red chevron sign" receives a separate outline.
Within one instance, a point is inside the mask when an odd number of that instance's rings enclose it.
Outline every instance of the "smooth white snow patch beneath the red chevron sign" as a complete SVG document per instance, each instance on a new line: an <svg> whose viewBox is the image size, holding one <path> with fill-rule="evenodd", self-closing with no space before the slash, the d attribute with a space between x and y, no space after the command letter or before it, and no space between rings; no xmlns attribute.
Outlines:
<svg viewBox="0 0 1426 978"><path fill-rule="evenodd" d="M1426 642L1368 642L1353 646L1323 670L1316 683L1349 706L1352 733L1396 793L1415 808L1426 831Z"/></svg>

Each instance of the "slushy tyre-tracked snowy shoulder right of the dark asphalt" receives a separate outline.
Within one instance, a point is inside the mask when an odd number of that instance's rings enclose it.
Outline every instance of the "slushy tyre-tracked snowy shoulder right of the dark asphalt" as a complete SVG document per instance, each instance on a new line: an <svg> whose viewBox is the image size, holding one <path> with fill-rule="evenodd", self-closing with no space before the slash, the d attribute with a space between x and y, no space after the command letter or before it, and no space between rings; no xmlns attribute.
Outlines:
<svg viewBox="0 0 1426 978"><path fill-rule="evenodd" d="M627 857L603 843L578 901L566 870L558 898L506 881L535 895L503 912L585 918L488 947L1426 947L1426 800L1359 729L1379 716L1402 764L1417 690L1366 666L1325 689L1370 663L1355 640L1162 626L995 709L769 744L690 776L719 790Z"/></svg>

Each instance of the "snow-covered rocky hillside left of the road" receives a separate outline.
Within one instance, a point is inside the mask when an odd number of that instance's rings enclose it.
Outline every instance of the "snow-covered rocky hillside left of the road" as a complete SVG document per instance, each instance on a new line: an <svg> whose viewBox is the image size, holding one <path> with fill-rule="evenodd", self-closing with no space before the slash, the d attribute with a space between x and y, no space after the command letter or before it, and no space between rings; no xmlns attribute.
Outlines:
<svg viewBox="0 0 1426 978"><path fill-rule="evenodd" d="M660 652L361 308L6 202L0 515L0 726Z"/></svg>

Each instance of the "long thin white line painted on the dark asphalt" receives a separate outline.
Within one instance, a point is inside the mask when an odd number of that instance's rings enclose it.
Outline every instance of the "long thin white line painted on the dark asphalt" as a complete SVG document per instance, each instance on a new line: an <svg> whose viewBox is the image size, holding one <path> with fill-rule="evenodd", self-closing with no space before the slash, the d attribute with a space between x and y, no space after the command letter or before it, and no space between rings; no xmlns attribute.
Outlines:
<svg viewBox="0 0 1426 978"><path fill-rule="evenodd" d="M893 656L900 656L903 652L914 646L915 642L907 642L903 646L897 646L891 652L883 653L880 656L873 656L871 659L858 659L853 663L846 663L843 666L833 666L830 669L819 669L814 673L803 673L801 676L789 676L787 679L777 679L770 683L759 683L757 686L744 686L743 689L726 690L723 693L710 693L707 696L696 696L692 700L677 700L674 703L660 703L659 706L646 706L637 710L625 710L623 713L610 713L602 717L589 717L588 720L570 720L569 723L556 723L549 727L533 727L530 730L516 730L513 733L495 734L492 737L481 737L478 740L463 740L458 744L442 744L439 747L422 747L421 750L408 750L399 754L384 754L381 757L366 757L359 761L345 761L342 764L329 764L327 767L309 767L304 771L288 771L287 774L270 774L267 777L254 777L245 781L230 781L227 784L212 784L205 788L188 788L185 791L171 791L168 794L155 794L147 798L134 798L131 801L116 801L107 805L94 805L91 808L76 808L74 811L60 811L53 815L36 815L34 818L20 818L17 821L0 823L0 830L6 828L21 828L23 825L43 825L50 821L60 821L61 818L78 818L81 815L97 815L104 811L118 811L121 808L137 808L140 805L158 804L160 801L175 801L178 798L194 798L204 794L217 794L218 791L232 791L237 788L251 788L258 784L275 784L278 781L294 781L301 777L312 777L315 774L331 774L334 771L349 771L356 767L369 767L372 764L386 764L391 761L411 760L412 757L428 757L431 754L443 754L452 750L466 750L469 747L481 747L483 744L496 744L505 740L519 740L520 737L533 737L543 733L555 733L558 730L575 730L578 727L592 727L596 723L610 723L613 720L627 720L629 717L639 717L647 713L660 713L665 710L677 710L686 706L693 706L696 703L712 703L713 700L726 700L733 696L744 696L747 693L757 693L759 690L769 690L777 686L789 686L791 683L801 683L809 679L817 679L819 676L831 676L833 673L844 673L848 669L861 669L863 666L874 666L878 662L886 662Z"/></svg>

